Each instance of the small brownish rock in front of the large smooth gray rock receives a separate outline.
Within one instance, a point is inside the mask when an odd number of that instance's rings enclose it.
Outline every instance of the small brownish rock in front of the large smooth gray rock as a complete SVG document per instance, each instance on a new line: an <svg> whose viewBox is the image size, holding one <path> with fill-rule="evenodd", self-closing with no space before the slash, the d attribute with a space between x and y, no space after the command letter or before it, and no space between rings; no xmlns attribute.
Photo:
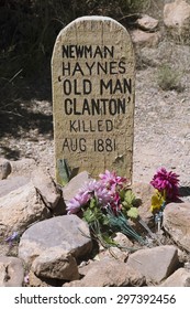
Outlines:
<svg viewBox="0 0 190 309"><path fill-rule="evenodd" d="M43 278L69 281L79 278L75 257L60 247L53 247L43 252L34 259L31 269L36 276Z"/></svg>

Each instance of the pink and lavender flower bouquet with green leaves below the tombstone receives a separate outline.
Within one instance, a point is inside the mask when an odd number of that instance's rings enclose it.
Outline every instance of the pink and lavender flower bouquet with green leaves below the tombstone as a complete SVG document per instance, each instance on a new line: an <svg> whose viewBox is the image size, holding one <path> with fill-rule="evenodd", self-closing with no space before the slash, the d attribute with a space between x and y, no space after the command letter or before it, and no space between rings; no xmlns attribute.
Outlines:
<svg viewBox="0 0 190 309"><path fill-rule="evenodd" d="M133 237L138 243L144 238L130 224L138 217L136 198L128 188L126 178L105 170L99 180L85 184L67 204L68 214L82 212L92 235L104 246L118 245L112 239L114 232Z"/></svg>

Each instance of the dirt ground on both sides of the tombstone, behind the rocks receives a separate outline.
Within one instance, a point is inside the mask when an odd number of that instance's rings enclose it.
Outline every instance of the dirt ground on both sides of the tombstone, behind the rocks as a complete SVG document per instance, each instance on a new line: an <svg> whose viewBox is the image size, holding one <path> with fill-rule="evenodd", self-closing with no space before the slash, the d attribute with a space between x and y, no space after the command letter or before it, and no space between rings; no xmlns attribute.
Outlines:
<svg viewBox="0 0 190 309"><path fill-rule="evenodd" d="M166 167L180 175L181 185L190 187L190 46L165 40L137 54L133 181L149 182L157 168ZM158 86L161 63L179 72L182 92ZM34 158L54 174L51 98L34 94L15 102L1 115L0 142L0 157Z"/></svg>

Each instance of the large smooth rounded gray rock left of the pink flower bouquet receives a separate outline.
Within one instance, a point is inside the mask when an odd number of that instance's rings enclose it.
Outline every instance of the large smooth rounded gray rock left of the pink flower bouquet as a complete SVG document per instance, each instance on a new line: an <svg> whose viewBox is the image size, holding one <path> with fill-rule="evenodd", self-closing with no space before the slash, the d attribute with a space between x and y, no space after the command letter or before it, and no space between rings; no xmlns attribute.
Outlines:
<svg viewBox="0 0 190 309"><path fill-rule="evenodd" d="M48 249L58 247L79 258L91 252L92 243L89 227L76 215L63 215L38 222L22 235L19 257L29 265Z"/></svg>

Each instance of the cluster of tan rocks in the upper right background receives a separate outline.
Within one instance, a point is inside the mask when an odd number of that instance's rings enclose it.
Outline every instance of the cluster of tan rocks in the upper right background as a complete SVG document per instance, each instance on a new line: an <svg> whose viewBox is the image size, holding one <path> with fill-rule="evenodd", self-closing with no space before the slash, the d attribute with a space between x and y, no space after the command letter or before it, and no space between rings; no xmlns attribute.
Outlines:
<svg viewBox="0 0 190 309"><path fill-rule="evenodd" d="M179 43L189 42L190 4L185 0L167 3L164 6L163 22L141 14L131 34L137 47L156 47L165 32Z"/></svg>

